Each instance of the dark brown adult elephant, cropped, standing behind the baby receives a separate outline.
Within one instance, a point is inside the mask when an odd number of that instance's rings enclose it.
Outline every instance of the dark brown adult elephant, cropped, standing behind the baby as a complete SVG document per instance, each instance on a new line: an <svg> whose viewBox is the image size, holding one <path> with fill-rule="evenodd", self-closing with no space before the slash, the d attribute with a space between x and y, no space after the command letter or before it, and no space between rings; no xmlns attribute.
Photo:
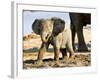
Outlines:
<svg viewBox="0 0 100 80"><path fill-rule="evenodd" d="M78 38L78 51L85 52L88 51L86 46L84 35L83 35L83 26L86 24L91 24L91 14L89 13L69 13L71 19L71 30L72 30L72 45L75 50L75 34L77 33Z"/></svg>

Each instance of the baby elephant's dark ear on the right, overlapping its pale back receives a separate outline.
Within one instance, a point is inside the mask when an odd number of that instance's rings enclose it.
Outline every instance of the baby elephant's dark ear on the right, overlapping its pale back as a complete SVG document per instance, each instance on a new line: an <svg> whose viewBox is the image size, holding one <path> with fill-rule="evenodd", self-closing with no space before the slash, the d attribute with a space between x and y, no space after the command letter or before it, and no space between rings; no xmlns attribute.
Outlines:
<svg viewBox="0 0 100 80"><path fill-rule="evenodd" d="M65 21L60 18L51 18L53 21L53 35L57 36L59 33L63 32L65 28Z"/></svg>

